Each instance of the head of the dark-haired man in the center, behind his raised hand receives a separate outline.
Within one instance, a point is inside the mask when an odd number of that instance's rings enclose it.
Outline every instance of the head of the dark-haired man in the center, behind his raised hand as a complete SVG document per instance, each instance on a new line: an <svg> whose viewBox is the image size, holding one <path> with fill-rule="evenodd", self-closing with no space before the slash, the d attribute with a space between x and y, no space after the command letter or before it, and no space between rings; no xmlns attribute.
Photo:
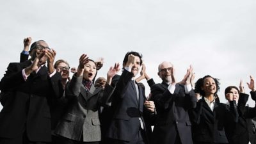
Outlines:
<svg viewBox="0 0 256 144"><path fill-rule="evenodd" d="M138 52L134 52L134 51L131 51L131 52L127 52L125 54L125 57L124 57L124 61L123 61L123 68L125 67L125 65L127 64L127 61L128 61L128 56L129 55L133 55L135 56L135 63L132 65L132 74L133 76L136 76L140 70L140 67L141 67L141 64L142 64L142 55Z"/></svg>

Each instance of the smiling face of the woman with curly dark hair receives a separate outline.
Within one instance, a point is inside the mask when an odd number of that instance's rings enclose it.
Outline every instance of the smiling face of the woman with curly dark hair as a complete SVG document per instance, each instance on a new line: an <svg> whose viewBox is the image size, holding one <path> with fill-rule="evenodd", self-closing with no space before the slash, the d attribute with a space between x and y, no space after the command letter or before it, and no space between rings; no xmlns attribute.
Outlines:
<svg viewBox="0 0 256 144"><path fill-rule="evenodd" d="M204 79L204 84L202 86L202 90L204 91L205 95L212 95L216 93L216 83L212 77L206 77Z"/></svg>

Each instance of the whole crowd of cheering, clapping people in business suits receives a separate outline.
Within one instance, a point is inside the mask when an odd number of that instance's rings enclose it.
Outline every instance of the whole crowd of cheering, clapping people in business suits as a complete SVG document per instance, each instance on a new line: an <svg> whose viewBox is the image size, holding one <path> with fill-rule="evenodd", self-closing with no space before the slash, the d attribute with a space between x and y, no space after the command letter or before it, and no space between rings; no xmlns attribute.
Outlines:
<svg viewBox="0 0 256 144"><path fill-rule="evenodd" d="M0 144L256 143L256 108L246 106L242 81L225 89L223 103L219 79L194 82L191 66L177 81L172 63L161 62L156 84L142 55L129 51L122 65L95 79L102 61L81 54L70 68L44 40L31 42L24 38L20 61L9 63L0 81ZM256 100L252 76L246 84Z"/></svg>

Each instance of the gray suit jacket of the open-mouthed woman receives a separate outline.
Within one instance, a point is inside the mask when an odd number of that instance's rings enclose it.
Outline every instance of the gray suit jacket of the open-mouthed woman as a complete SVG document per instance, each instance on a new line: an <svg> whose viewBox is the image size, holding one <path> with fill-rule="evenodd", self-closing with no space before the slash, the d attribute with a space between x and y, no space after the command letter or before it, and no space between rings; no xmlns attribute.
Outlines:
<svg viewBox="0 0 256 144"><path fill-rule="evenodd" d="M100 141L99 108L113 93L114 88L106 84L105 90L92 86L86 92L83 76L73 76L66 86L67 112L58 123L55 133L65 138L80 141ZM106 99L105 99L106 98Z"/></svg>

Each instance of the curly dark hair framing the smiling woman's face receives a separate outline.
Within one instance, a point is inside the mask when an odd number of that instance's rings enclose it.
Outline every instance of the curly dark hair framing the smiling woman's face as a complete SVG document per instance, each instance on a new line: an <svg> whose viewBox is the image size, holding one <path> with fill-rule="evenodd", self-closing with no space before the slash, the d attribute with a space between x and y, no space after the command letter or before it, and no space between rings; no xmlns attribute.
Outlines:
<svg viewBox="0 0 256 144"><path fill-rule="evenodd" d="M207 77L211 77L212 79L214 79L215 84L216 84L216 92L214 93L215 96L217 96L218 91L220 91L220 82L219 79L214 78L212 76L204 76L203 78L200 78L196 81L195 83L195 92L200 93L200 95L202 95L203 97L205 96L204 90L201 89L201 87L204 85L204 79L206 79Z"/></svg>

